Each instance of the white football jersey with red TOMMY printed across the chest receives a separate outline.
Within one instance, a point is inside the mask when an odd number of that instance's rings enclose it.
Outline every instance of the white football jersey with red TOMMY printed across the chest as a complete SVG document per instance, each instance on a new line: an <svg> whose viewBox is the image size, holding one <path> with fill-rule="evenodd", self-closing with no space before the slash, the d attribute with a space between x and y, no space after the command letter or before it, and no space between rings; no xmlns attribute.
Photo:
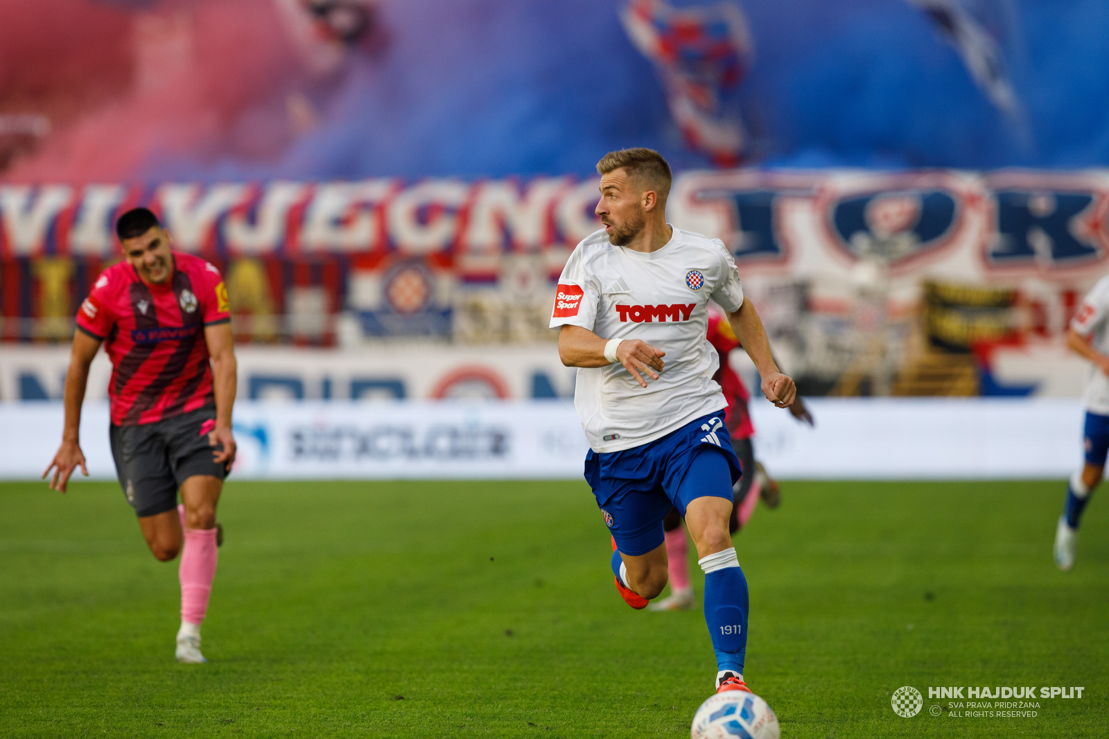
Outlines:
<svg viewBox="0 0 1109 739"><path fill-rule="evenodd" d="M719 239L674 229L648 254L611 244L602 229L573 250L551 328L581 326L667 353L665 368L645 388L619 363L578 370L573 404L594 452L653 442L726 407L712 379L720 358L706 338L710 298L730 312L743 305L739 270Z"/></svg>

